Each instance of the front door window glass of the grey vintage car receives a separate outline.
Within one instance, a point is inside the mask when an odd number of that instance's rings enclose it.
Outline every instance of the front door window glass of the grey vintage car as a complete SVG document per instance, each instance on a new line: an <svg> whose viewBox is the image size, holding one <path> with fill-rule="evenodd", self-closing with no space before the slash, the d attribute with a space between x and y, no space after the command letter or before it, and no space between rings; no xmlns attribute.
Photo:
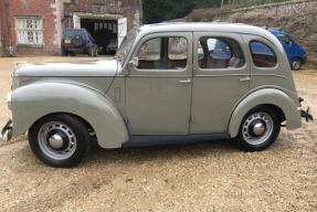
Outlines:
<svg viewBox="0 0 317 212"><path fill-rule="evenodd" d="M156 38L142 44L136 55L139 70L182 70L187 66L186 38Z"/></svg>

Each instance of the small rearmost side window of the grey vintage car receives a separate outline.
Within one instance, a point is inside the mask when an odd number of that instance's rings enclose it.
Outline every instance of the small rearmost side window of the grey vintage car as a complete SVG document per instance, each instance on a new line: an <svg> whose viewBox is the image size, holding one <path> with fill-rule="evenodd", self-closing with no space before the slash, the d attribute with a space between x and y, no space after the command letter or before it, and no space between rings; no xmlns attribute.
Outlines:
<svg viewBox="0 0 317 212"><path fill-rule="evenodd" d="M275 67L276 55L266 44L257 41L250 42L253 63L256 67Z"/></svg>

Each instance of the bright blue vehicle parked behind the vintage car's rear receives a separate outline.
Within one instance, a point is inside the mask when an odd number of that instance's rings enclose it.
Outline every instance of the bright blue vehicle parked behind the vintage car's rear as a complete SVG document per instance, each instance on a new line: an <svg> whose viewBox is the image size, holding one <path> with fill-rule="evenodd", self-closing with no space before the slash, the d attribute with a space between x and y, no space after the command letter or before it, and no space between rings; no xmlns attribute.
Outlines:
<svg viewBox="0 0 317 212"><path fill-rule="evenodd" d="M300 66L307 62L306 51L303 50L303 47L300 47L287 33L275 29L267 29L267 31L281 41L287 54L292 70L300 70Z"/></svg>

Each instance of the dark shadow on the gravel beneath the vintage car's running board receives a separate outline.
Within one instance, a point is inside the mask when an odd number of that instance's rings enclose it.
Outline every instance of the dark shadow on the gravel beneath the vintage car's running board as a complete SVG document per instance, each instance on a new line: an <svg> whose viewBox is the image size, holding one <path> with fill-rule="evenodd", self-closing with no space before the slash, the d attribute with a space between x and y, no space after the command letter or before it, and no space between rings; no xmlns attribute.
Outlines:
<svg viewBox="0 0 317 212"><path fill-rule="evenodd" d="M123 163L142 163L157 160L169 161L172 158L188 159L213 153L226 155L239 151L241 150L234 139L120 149L103 149L97 145L92 145L82 165L95 162L104 165L117 161Z"/></svg>

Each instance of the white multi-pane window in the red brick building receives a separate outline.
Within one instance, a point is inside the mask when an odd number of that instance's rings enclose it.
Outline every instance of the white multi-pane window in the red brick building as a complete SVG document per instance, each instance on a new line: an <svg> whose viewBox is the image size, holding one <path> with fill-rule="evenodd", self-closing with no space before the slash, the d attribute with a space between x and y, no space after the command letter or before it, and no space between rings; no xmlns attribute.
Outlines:
<svg viewBox="0 0 317 212"><path fill-rule="evenodd" d="M42 45L43 26L42 19L19 18L17 19L18 44Z"/></svg>

